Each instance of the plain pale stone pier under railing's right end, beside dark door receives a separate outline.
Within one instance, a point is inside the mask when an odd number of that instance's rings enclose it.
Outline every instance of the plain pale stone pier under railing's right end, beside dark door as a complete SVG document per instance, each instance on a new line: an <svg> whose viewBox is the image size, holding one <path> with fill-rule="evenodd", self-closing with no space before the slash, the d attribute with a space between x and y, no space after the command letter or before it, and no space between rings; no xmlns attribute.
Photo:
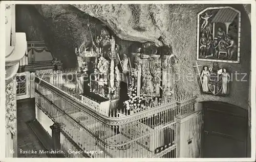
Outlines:
<svg viewBox="0 0 256 162"><path fill-rule="evenodd" d="M176 157L199 158L201 156L202 112L198 111L183 118L177 118Z"/></svg>

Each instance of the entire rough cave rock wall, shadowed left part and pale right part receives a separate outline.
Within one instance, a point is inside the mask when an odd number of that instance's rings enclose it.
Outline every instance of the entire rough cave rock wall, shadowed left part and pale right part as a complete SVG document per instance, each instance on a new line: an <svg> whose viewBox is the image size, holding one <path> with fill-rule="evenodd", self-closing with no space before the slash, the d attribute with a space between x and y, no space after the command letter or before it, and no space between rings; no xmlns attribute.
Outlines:
<svg viewBox="0 0 256 162"><path fill-rule="evenodd" d="M129 52L132 44L147 41L158 46L172 47L178 58L174 73L183 76L177 80L177 91L196 92L198 101L223 101L247 109L249 93L249 74L247 82L234 80L230 83L227 97L205 95L200 92L196 65L197 14L207 7L231 6L241 11L241 50L240 64L219 63L230 73L249 73L251 63L251 26L248 9L244 5L213 4L110 4L110 5L17 5L17 31L25 32L28 40L42 39L60 59L64 66L75 67L77 60L75 46L84 39L88 16L89 23L96 23L99 35L103 26L118 36L120 53ZM247 5L248 6L248 5ZM88 15L89 14L89 15ZM88 40L91 38L88 37ZM213 62L198 61L200 65L212 66ZM193 74L189 81L187 74ZM175 75L174 75L175 77ZM239 75L241 79L243 75ZM189 75L191 79L191 75Z"/></svg>

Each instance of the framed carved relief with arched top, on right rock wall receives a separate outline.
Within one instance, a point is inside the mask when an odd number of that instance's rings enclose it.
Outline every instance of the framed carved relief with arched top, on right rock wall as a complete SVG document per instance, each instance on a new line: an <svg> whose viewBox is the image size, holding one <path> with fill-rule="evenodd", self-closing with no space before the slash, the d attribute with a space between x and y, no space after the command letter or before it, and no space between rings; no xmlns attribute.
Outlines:
<svg viewBox="0 0 256 162"><path fill-rule="evenodd" d="M197 15L197 60L240 63L241 12L209 7Z"/></svg>

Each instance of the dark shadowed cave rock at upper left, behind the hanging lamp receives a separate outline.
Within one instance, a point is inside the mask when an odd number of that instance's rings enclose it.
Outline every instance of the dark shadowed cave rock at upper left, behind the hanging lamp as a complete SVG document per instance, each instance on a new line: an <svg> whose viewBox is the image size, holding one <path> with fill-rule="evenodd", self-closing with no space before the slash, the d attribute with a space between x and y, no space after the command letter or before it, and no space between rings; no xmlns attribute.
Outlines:
<svg viewBox="0 0 256 162"><path fill-rule="evenodd" d="M75 48L82 44L88 23L93 39L100 35L102 28L114 34L100 20L72 5L16 5L16 32L26 33L28 41L45 41L65 68L77 66ZM86 40L91 42L89 31ZM120 53L128 53L131 44L136 43L118 37L116 42L121 46Z"/></svg>

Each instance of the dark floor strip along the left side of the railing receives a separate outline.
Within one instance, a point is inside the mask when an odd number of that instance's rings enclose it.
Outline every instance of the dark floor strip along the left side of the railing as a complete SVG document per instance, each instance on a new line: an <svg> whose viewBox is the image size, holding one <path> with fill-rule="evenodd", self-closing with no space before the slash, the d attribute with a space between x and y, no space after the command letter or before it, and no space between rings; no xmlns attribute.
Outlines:
<svg viewBox="0 0 256 162"><path fill-rule="evenodd" d="M17 100L17 131L18 131L18 157L47 157L40 153L44 150L32 129L27 124L35 118L34 99ZM20 150L27 153L20 153Z"/></svg>

